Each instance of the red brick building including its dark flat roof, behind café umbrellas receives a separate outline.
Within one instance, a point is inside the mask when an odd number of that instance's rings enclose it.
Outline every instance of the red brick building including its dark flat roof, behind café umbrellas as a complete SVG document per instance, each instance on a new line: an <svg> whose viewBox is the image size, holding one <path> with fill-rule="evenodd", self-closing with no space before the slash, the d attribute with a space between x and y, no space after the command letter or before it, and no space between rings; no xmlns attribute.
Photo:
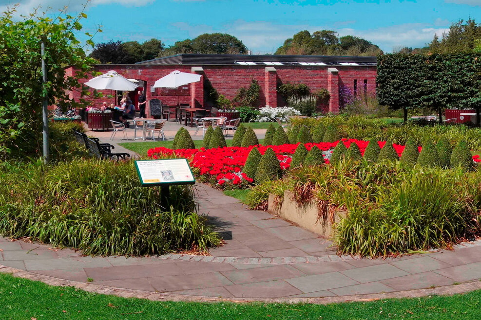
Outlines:
<svg viewBox="0 0 481 320"><path fill-rule="evenodd" d="M277 93L282 83L305 84L313 92L327 89L330 93L328 111L339 111L339 94L349 91L352 95L375 92L376 57L315 56L315 55L249 55L249 54L177 54L136 64L96 65L96 71L115 70L126 78L135 79L139 89L146 92L147 100L159 99L163 104L189 103L195 107L212 106L208 101L209 90L216 89L232 99L240 88L247 88L252 79L261 86L259 106L283 107L284 99ZM153 88L154 82L171 71L201 74L201 81L178 89ZM70 68L67 72L75 72ZM90 79L81 79L86 82ZM112 94L105 90L104 94ZM71 98L79 98L72 92ZM115 99L97 99L118 104L122 92ZM136 105L137 94L129 92ZM149 104L147 104L149 114ZM327 107L327 106L326 106Z"/></svg>

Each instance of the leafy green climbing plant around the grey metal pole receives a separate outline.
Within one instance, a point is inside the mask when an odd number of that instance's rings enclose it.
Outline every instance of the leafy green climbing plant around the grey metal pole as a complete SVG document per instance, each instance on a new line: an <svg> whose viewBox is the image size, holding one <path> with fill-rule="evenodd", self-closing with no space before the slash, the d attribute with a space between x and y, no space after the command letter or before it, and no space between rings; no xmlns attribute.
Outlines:
<svg viewBox="0 0 481 320"><path fill-rule="evenodd" d="M56 18L48 14L32 13L17 20L13 14L17 6L0 17L0 154L10 156L34 155L41 150L41 108L44 94L48 104L62 108L78 107L84 100L70 100L72 90L83 91L79 78L93 73L95 60L87 58L76 34L82 29L83 12L70 16L65 10ZM92 35L87 45L93 46ZM42 84L40 43L45 44L47 82ZM77 69L66 73L65 67ZM94 91L94 95L96 95ZM10 151L12 151L10 153Z"/></svg>

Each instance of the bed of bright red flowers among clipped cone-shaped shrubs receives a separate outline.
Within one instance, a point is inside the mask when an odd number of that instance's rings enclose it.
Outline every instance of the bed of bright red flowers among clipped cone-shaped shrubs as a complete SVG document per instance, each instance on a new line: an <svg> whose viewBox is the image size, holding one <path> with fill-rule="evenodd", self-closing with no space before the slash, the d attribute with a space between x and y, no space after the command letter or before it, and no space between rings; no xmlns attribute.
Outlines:
<svg viewBox="0 0 481 320"><path fill-rule="evenodd" d="M361 155L364 156L364 151L366 150L368 141L356 140L356 139L342 139L342 142L348 148L352 142L356 143L361 150ZM310 150L313 145L316 145L322 151L328 151L333 149L337 145L336 142L321 142L321 143L306 143L306 149ZM379 141L379 146L382 148L385 145L385 141ZM267 148L272 148L279 163L281 169L286 170L290 167L290 161L292 160L292 155L294 154L297 144L282 144L273 146L258 146L259 152L263 155ZM190 159L192 167L199 169L199 179L204 182L209 182L216 184L222 188L244 188L248 186L252 179L247 177L243 172L242 168L246 163L247 156L250 150L254 146L249 147L224 147L224 148L213 148L207 149L177 149L172 150L165 147L158 147L150 149L147 152L148 157L152 159L158 159L158 156L163 155L175 155L179 158ZM394 149L401 157L404 151L404 145L393 144ZM419 147L421 151L421 147ZM331 151L332 152L332 151ZM473 160L476 162L481 162L479 156L474 156ZM325 159L326 163L329 160Z"/></svg>

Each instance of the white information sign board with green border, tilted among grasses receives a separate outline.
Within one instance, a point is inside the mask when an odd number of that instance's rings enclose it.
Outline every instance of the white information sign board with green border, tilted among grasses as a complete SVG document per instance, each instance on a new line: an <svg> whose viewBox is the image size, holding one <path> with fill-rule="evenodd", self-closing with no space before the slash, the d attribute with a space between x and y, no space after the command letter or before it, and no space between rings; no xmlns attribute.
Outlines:
<svg viewBox="0 0 481 320"><path fill-rule="evenodd" d="M187 159L136 160L135 168L143 187L195 183Z"/></svg>

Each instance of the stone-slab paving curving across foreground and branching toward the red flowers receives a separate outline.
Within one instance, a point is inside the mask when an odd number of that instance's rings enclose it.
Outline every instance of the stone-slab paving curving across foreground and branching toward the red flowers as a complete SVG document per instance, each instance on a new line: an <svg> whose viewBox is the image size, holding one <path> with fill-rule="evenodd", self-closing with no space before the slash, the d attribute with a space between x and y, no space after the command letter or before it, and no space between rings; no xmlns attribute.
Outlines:
<svg viewBox="0 0 481 320"><path fill-rule="evenodd" d="M341 302L481 288L481 241L385 260L339 257L327 239L207 185L195 190L226 242L210 256L91 257L0 238L0 272L154 300Z"/></svg>

